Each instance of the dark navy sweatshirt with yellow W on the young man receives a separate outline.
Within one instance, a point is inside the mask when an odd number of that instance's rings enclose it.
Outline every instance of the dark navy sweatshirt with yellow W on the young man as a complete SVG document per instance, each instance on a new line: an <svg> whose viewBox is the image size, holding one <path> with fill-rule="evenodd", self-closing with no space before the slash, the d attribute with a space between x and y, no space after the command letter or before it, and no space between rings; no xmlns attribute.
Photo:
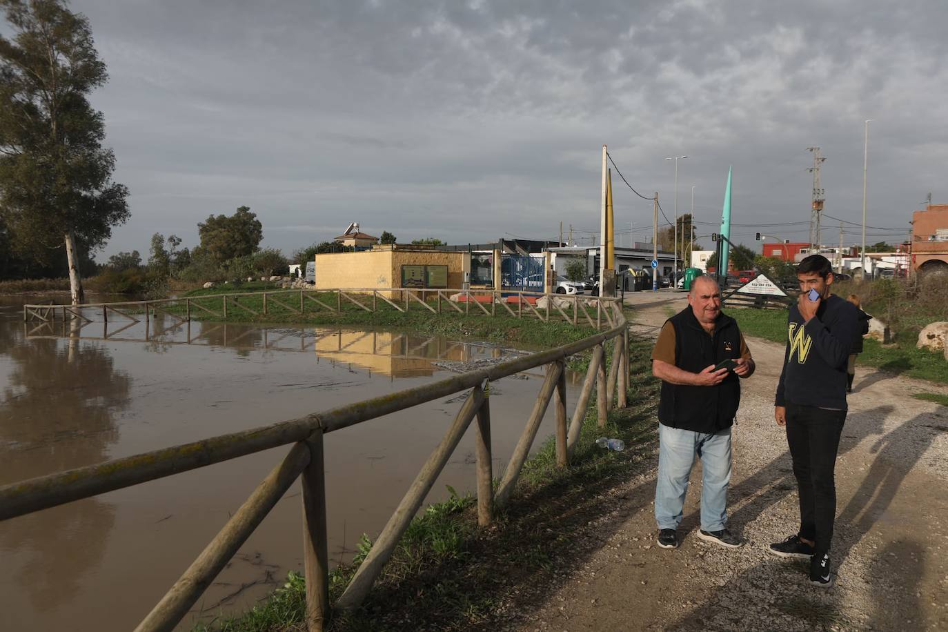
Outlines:
<svg viewBox="0 0 948 632"><path fill-rule="evenodd" d="M788 403L846 410L846 365L859 309L830 295L810 322L794 303L787 318L787 350L776 387L775 406Z"/></svg>

